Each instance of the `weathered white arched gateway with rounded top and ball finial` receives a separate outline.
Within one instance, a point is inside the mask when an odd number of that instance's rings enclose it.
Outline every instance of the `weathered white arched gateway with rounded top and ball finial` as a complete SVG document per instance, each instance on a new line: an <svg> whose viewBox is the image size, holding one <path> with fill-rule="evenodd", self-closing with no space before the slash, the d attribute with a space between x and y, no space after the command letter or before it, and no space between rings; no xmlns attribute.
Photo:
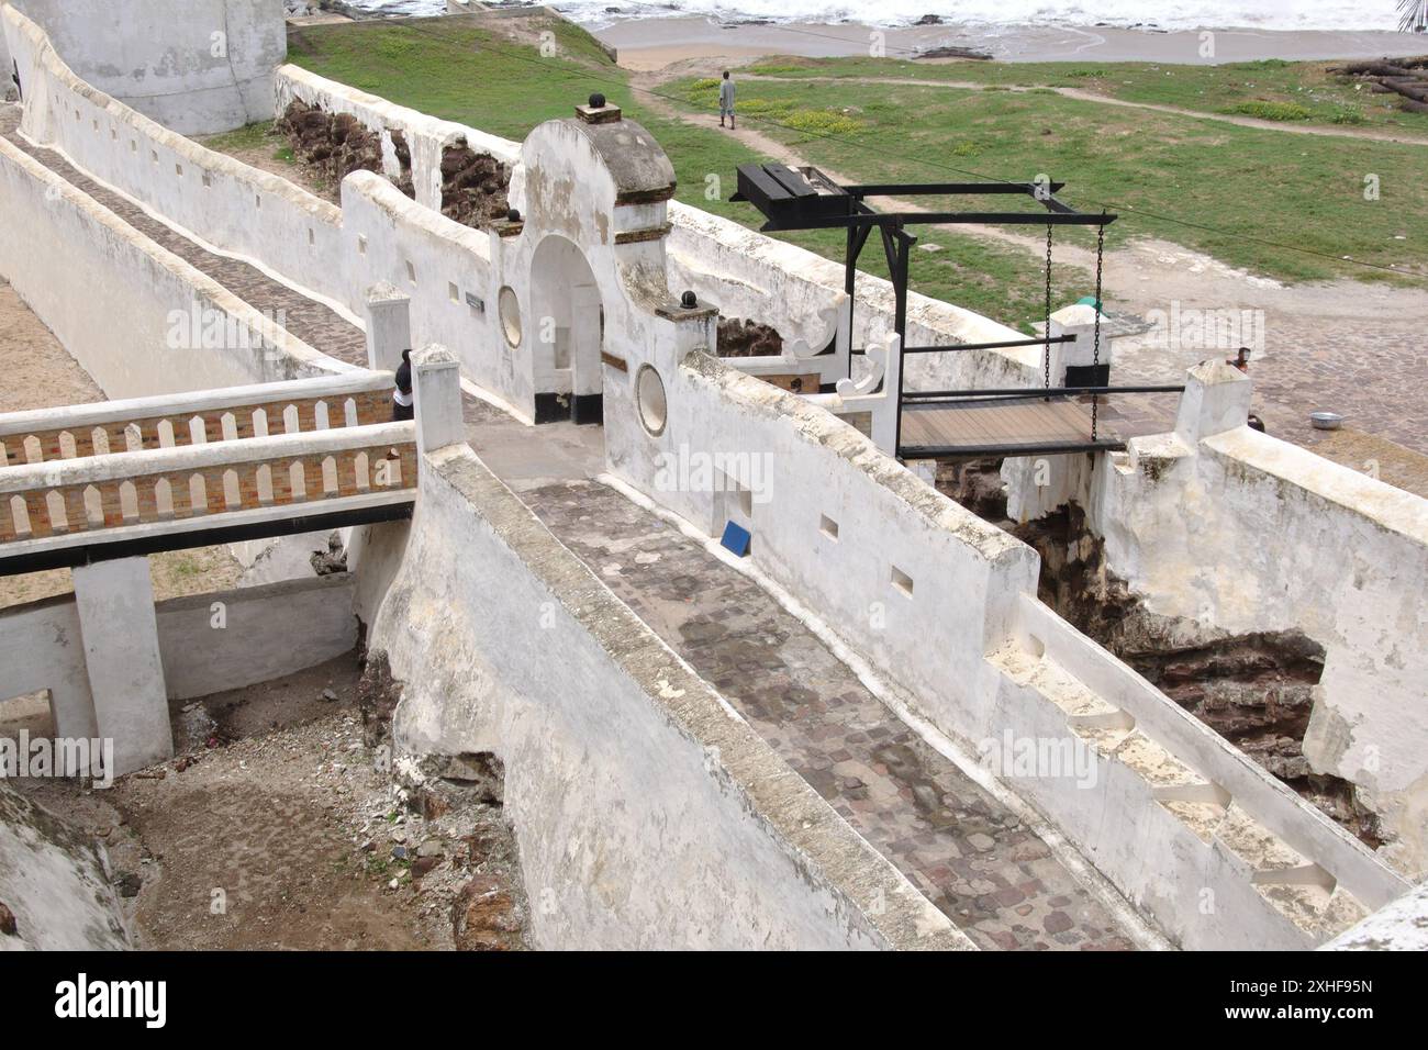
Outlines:
<svg viewBox="0 0 1428 1050"><path fill-rule="evenodd" d="M714 350L717 310L681 304L665 273L674 167L648 131L591 96L534 129L511 173L513 216L493 267L501 327L537 423L604 423L611 461L657 439L637 380L673 386L694 349ZM673 390L670 391L673 394Z"/></svg>

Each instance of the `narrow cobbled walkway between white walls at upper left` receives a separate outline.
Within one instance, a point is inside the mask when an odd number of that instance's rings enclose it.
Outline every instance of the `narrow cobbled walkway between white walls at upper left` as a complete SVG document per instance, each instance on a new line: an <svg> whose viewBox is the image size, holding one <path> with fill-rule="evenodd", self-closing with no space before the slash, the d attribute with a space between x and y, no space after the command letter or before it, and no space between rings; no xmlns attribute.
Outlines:
<svg viewBox="0 0 1428 1050"><path fill-rule="evenodd" d="M87 193L156 244L213 277L253 309L271 317L283 317L283 327L314 350L348 364L367 363L367 343L361 330L330 307L273 280L256 266L207 251L187 237L174 233L159 220L149 217L136 204L111 190L106 190L54 150L27 143L17 131L19 121L20 109L17 106L0 106L0 134L13 146L24 150L76 189Z"/></svg>

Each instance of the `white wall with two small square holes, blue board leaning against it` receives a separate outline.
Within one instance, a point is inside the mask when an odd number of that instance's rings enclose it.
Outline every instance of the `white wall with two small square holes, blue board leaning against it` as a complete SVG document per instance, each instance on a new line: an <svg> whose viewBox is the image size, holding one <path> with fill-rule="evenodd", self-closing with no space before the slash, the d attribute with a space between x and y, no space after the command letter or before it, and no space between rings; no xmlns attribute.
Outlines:
<svg viewBox="0 0 1428 1050"><path fill-rule="evenodd" d="M1035 594L1031 547L823 409L707 354L687 356L665 396L664 433L613 453L617 476L705 533L745 526L754 564L914 696L994 687L982 656L1017 596Z"/></svg>

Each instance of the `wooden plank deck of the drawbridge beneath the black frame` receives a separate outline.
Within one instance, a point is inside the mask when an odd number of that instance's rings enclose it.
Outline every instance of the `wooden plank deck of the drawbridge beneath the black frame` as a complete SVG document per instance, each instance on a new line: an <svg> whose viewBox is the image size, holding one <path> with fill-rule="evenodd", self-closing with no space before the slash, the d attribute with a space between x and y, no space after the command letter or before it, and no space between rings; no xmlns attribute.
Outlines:
<svg viewBox="0 0 1428 1050"><path fill-rule="evenodd" d="M905 403L898 451L905 459L962 459L1124 447L1104 430L1092 440L1090 406L1067 397L987 397Z"/></svg>

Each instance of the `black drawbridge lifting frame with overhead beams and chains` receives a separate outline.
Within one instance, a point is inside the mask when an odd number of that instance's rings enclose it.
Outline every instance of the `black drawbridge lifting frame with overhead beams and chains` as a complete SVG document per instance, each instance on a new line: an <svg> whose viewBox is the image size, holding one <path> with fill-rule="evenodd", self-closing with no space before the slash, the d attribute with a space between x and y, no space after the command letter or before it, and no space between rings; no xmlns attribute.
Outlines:
<svg viewBox="0 0 1428 1050"><path fill-rule="evenodd" d="M892 280L894 320L892 329L898 337L900 367L897 390L897 453L915 451L918 456L951 454L947 449L904 449L902 447L902 404L935 403L937 400L951 401L952 399L981 400L985 397L1002 396L1070 396L1070 394L1111 394L1111 393L1161 393L1180 390L1182 387L1055 387L1050 383L1045 389L1024 387L1012 391L988 390L934 390L905 393L907 354L957 353L967 350L1001 350L1021 346L1041 346L1050 356L1052 343L1070 343L1072 336L1052 336L1048 330L1041 339L1012 339L1000 343L965 343L961 346L905 346L907 341L907 281L908 260L917 237L907 231L907 226L921 224L1004 224L1004 226L1045 226L1048 227L1047 280L1050 296L1050 227L1052 226L1094 226L1101 234L1107 226L1117 220L1117 216L1102 211L1090 214L1077 211L1070 204L1057 200L1055 194L1065 187L1065 183L1038 180L1032 183L870 183L860 186L840 186L815 167L791 169L785 164L740 164L738 190L730 200L743 200L754 204L767 221L764 231L785 230L827 230L845 229L848 231L847 250L844 256L844 291L848 294L848 321L851 330L853 304L855 303L854 283L858 269L858 257L868 243L873 229L877 227L883 240L883 251L887 256L888 274ZM875 211L868 203L868 197L934 197L934 196L1024 196L1042 207L1041 211ZM1100 287L1100 273L1097 274ZM1050 301L1050 299L1048 299ZM1100 303L1097 303L1100 311ZM1098 317L1100 320L1100 317ZM1097 333L1100 336L1100 333ZM854 350L851 353L865 353ZM921 394L921 396L918 396ZM1088 444L1061 449L1057 451L1077 451L1094 449L1124 447L1118 441L1101 441L1095 437L1094 420L1092 434ZM1021 446L1004 446L972 450L977 454L1028 454ZM1045 453L1048 449L1035 451ZM957 454L964 454L958 451Z"/></svg>

